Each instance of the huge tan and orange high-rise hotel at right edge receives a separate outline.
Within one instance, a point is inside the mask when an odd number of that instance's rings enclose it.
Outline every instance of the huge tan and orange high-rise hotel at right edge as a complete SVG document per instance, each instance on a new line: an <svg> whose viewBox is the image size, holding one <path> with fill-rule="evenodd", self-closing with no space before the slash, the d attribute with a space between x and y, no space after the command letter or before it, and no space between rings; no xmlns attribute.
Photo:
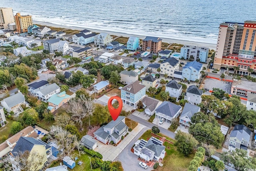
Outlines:
<svg viewBox="0 0 256 171"><path fill-rule="evenodd" d="M220 24L214 68L229 67L240 75L250 75L248 68L256 71L256 21Z"/></svg>

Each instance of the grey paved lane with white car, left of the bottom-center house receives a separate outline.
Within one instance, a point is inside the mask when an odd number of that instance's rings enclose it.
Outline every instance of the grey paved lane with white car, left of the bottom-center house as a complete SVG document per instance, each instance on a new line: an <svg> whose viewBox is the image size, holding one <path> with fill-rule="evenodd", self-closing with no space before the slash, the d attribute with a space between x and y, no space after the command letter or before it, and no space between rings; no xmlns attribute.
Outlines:
<svg viewBox="0 0 256 171"><path fill-rule="evenodd" d="M124 171L144 171L139 165L138 156L132 153L131 148L134 143L150 128L144 127L140 133L124 148L124 150L116 157L115 161L121 161ZM153 170L153 167L148 167L148 171Z"/></svg>

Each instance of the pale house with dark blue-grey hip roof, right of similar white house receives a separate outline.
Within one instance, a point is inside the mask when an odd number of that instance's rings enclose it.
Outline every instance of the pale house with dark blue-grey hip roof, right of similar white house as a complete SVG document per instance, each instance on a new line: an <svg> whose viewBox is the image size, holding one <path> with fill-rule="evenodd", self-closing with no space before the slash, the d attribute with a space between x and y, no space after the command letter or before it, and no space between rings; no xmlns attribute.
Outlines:
<svg viewBox="0 0 256 171"><path fill-rule="evenodd" d="M202 102L203 90L200 90L197 86L191 85L186 90L184 100L188 100L190 104L199 104Z"/></svg>

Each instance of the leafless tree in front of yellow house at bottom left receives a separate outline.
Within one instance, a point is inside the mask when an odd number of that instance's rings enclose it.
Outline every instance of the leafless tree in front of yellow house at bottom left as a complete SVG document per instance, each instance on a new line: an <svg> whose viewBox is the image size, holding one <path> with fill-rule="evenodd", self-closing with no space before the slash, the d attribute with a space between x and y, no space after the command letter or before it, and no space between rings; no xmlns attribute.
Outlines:
<svg viewBox="0 0 256 171"><path fill-rule="evenodd" d="M37 151L20 151L14 153L10 157L13 167L20 168L22 171L38 171L44 166L47 161L46 156L40 155Z"/></svg>

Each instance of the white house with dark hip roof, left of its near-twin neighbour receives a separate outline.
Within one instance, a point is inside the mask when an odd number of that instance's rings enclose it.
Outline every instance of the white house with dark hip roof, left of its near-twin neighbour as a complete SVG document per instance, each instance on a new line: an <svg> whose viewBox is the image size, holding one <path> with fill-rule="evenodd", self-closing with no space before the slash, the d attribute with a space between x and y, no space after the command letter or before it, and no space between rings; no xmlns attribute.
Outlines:
<svg viewBox="0 0 256 171"><path fill-rule="evenodd" d="M175 97L176 101L182 93L182 85L178 84L177 81L169 81L165 86L165 92L169 92L171 97Z"/></svg>

